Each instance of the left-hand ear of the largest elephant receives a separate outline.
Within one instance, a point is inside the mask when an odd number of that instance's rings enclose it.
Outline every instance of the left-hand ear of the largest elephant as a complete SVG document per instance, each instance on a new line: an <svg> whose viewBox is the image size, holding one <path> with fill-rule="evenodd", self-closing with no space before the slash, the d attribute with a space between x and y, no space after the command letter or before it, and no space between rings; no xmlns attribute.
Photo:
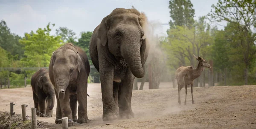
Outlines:
<svg viewBox="0 0 256 129"><path fill-rule="evenodd" d="M102 22L99 25L99 30L98 30L98 38L102 46L105 46L106 43L108 42L108 37L107 37L107 19L108 16L104 17L102 19Z"/></svg>

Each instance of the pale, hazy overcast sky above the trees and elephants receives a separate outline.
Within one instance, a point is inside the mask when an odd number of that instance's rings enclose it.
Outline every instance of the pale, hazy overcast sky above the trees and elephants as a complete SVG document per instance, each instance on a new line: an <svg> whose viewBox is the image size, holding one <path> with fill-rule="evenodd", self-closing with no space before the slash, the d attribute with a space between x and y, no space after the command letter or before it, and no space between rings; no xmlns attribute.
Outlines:
<svg viewBox="0 0 256 129"><path fill-rule="evenodd" d="M207 15L218 0L191 0L195 19ZM52 34L59 26L72 29L77 37L81 31L93 31L102 18L116 8L143 11L148 20L169 23L169 0L0 0L0 20L5 20L12 33L23 37L25 32L44 28L55 23ZM163 25L154 34L166 34L169 26Z"/></svg>

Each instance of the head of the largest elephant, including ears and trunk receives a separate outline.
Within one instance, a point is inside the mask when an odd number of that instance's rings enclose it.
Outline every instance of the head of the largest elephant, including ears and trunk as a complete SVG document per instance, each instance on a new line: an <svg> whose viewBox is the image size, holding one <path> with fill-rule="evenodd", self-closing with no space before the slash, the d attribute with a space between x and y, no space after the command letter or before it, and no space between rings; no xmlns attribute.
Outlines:
<svg viewBox="0 0 256 129"><path fill-rule="evenodd" d="M136 9L118 8L103 18L98 30L98 42L102 46L107 45L115 57L124 58L137 78L145 75L144 22L145 15Z"/></svg>

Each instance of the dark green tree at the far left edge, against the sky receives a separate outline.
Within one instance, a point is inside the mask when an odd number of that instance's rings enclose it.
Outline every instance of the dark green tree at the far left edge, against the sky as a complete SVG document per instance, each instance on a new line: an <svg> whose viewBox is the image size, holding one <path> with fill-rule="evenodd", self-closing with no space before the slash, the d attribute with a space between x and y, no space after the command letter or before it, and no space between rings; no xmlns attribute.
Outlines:
<svg viewBox="0 0 256 129"><path fill-rule="evenodd" d="M24 51L21 49L23 45L19 43L19 37L12 34L4 20L0 21L0 47L15 56L15 60L22 57Z"/></svg>

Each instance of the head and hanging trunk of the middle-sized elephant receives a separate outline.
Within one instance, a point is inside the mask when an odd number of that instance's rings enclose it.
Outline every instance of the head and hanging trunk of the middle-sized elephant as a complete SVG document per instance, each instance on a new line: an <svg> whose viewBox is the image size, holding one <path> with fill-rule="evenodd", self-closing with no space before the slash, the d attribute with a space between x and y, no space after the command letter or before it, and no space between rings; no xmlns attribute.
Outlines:
<svg viewBox="0 0 256 129"><path fill-rule="evenodd" d="M82 60L73 44L69 43L70 48L60 48L53 52L51 66L58 93L58 99L64 99L65 91L70 83L77 80L81 70Z"/></svg>

